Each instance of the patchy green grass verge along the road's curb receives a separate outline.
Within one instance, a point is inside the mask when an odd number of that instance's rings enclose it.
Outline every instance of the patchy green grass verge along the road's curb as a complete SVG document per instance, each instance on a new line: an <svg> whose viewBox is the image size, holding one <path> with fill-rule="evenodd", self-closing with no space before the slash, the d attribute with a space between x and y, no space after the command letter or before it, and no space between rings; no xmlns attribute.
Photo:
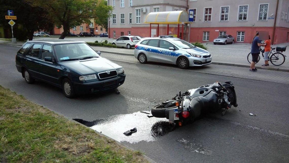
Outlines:
<svg viewBox="0 0 289 163"><path fill-rule="evenodd" d="M131 151L0 86L0 162L147 162Z"/></svg>

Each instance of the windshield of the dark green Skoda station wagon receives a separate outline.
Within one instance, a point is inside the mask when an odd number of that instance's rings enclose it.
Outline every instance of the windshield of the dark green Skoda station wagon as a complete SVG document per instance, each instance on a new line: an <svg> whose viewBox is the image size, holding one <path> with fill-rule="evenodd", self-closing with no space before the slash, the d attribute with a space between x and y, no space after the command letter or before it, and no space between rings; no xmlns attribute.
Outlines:
<svg viewBox="0 0 289 163"><path fill-rule="evenodd" d="M54 45L54 48L58 61L71 61L99 57L99 54L86 43Z"/></svg>

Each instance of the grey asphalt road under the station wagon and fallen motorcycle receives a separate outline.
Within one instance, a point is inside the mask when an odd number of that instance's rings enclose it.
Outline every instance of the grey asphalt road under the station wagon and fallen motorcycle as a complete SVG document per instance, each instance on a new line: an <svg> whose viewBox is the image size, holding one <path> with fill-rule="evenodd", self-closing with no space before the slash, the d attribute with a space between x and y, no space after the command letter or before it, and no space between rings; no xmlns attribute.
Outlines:
<svg viewBox="0 0 289 163"><path fill-rule="evenodd" d="M121 142L143 151L156 162L289 160L289 87L286 84L203 74L162 64L115 61L124 67L127 75L125 83L119 87L120 95L104 93L68 99L60 89L46 83L27 84L15 67L17 50L18 47L0 45L0 85L69 119L95 121L105 118L107 121L103 125L116 120L110 117L141 115L139 111L149 111L158 102L175 96L178 91L231 80L236 87L239 106L229 109L225 116L221 116L220 110L154 140L140 138L134 143L129 140ZM257 116L249 116L249 113ZM148 122L153 121L149 119ZM146 115L142 118L132 117L131 124L142 124L145 120ZM158 121L156 118L154 120ZM145 129L149 129L151 123L144 125L147 125ZM137 133L147 132L141 129L138 128Z"/></svg>

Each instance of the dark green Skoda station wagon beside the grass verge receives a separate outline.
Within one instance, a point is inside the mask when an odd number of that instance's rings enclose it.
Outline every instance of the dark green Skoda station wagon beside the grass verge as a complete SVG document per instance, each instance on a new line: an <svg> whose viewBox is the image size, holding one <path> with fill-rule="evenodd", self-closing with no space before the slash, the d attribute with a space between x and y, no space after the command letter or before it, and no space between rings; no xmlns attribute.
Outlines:
<svg viewBox="0 0 289 163"><path fill-rule="evenodd" d="M27 83L47 82L62 88L68 98L116 90L125 81L123 67L83 41L27 41L16 53L16 68Z"/></svg>

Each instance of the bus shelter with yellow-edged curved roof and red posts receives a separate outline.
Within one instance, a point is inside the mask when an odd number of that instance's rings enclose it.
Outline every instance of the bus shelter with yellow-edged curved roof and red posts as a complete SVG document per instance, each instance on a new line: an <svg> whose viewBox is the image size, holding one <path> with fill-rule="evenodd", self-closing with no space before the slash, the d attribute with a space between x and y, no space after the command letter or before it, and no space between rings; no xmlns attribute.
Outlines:
<svg viewBox="0 0 289 163"><path fill-rule="evenodd" d="M189 22L189 14L187 11L165 11L165 12L150 12L144 23L150 24L150 36L151 25L158 25L157 36L159 36L160 24L167 24L167 35L169 35L170 24L177 24L177 37L184 40L184 25ZM180 36L180 24L181 24L181 36Z"/></svg>

